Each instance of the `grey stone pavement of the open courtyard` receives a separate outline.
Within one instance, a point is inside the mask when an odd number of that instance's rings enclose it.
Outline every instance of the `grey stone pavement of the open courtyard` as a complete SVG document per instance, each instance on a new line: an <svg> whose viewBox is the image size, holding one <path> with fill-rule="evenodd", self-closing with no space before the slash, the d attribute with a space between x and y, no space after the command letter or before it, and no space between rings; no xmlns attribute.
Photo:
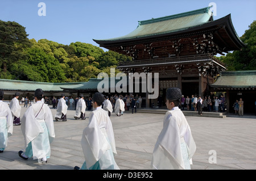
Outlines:
<svg viewBox="0 0 256 181"><path fill-rule="evenodd" d="M26 110L22 107L21 116ZM56 110L51 111L54 117ZM24 149L24 138L20 126L14 126L9 145L0 153L0 170L72 170L74 166L81 167L84 155L80 141L82 131L88 125L89 113L86 111L86 120L75 120L75 111L68 110L66 122L54 121L56 137L51 144L51 158L43 165L32 158L23 160L18 156L18 151ZM256 116L186 117L197 146L191 169L256 169ZM127 111L118 117L112 113L110 119L118 153L115 161L121 170L151 169L152 151L162 130L163 118L164 114ZM214 151L216 154L212 155Z"/></svg>

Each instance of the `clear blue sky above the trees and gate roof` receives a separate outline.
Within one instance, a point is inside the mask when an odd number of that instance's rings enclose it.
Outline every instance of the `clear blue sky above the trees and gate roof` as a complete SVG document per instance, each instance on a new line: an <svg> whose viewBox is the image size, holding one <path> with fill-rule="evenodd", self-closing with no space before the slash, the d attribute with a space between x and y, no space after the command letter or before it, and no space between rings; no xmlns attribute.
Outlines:
<svg viewBox="0 0 256 181"><path fill-rule="evenodd" d="M46 4L46 16L38 15L40 2ZM18 22L26 27L28 38L36 41L98 46L92 39L123 36L135 30L139 20L201 9L210 2L217 6L215 20L231 14L238 36L256 19L255 0L0 0L0 19Z"/></svg>

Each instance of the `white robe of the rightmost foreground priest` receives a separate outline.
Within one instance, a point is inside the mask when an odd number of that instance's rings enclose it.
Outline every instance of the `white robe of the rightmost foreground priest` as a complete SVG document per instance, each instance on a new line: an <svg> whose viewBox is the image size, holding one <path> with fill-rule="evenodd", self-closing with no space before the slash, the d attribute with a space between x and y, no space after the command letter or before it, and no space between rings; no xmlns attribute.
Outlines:
<svg viewBox="0 0 256 181"><path fill-rule="evenodd" d="M151 166L154 169L185 169L181 144L185 142L188 160L196 151L191 129L182 111L175 107L167 111L163 129L159 134L153 151ZM190 167L190 166L189 166Z"/></svg>

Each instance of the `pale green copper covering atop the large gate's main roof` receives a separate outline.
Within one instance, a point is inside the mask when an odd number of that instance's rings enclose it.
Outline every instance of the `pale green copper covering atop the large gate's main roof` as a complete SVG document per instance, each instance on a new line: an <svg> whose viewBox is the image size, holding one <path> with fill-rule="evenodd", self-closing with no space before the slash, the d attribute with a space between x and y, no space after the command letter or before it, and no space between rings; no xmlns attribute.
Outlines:
<svg viewBox="0 0 256 181"><path fill-rule="evenodd" d="M125 36L106 39L106 41L134 39L138 37L146 37L187 30L188 28L209 22L212 15L212 12L209 11L209 8L210 7L205 7L204 9L183 12L181 14L139 21L137 29L133 32Z"/></svg>

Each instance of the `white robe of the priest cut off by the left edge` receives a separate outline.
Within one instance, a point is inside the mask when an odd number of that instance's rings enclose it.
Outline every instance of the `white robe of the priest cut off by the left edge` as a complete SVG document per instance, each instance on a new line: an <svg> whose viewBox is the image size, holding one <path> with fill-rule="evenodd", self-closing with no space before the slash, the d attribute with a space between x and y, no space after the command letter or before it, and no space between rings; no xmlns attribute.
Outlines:
<svg viewBox="0 0 256 181"><path fill-rule="evenodd" d="M13 115L8 104L0 100L0 150L5 150L8 137L13 134Z"/></svg>

